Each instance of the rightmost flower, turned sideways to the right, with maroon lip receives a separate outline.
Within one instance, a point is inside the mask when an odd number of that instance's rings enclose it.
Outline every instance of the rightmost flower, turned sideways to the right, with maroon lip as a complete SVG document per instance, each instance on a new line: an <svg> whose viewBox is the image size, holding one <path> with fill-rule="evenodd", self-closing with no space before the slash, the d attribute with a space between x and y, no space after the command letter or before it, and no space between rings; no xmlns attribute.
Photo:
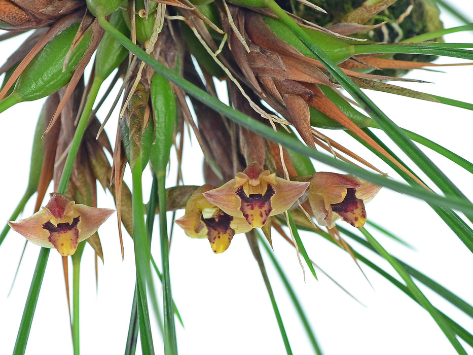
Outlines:
<svg viewBox="0 0 473 355"><path fill-rule="evenodd" d="M310 181L309 203L320 226L333 228L340 217L353 227L361 228L366 222L363 200L371 200L379 189L352 175L316 172Z"/></svg>

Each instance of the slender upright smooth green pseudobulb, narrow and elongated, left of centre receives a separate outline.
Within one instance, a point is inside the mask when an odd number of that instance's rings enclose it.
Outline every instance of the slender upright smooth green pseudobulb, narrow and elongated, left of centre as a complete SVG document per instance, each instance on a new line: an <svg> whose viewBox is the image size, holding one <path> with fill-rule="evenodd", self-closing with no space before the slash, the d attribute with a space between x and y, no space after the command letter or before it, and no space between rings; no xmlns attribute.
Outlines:
<svg viewBox="0 0 473 355"><path fill-rule="evenodd" d="M156 118L156 141L151 148L151 166L156 172L166 173L176 122L176 98L171 84L160 74L151 79L151 104Z"/></svg>

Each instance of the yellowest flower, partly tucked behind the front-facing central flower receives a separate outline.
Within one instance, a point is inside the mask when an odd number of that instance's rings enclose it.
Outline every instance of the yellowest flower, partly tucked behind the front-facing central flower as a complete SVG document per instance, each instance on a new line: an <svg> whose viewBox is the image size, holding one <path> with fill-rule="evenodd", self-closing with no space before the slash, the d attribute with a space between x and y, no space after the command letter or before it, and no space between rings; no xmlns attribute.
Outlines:
<svg viewBox="0 0 473 355"><path fill-rule="evenodd" d="M235 234L246 233L252 227L245 219L230 216L209 202L203 193L212 189L210 185L198 188L186 204L184 217L174 222L191 238L207 237L213 252L218 254L228 249Z"/></svg>

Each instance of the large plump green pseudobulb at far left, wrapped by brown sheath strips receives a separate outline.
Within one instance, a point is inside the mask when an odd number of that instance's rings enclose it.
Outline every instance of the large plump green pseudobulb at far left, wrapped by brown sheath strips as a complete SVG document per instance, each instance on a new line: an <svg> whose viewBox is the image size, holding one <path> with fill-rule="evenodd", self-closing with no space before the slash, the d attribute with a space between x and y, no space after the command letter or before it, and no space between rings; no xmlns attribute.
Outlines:
<svg viewBox="0 0 473 355"><path fill-rule="evenodd" d="M13 92L0 101L0 112L18 102L32 101L48 96L69 82L77 64L87 51L91 39L91 33L86 33L72 51L65 70L62 70L67 52L78 28L79 24L67 27L44 46L24 68L16 81Z"/></svg>

